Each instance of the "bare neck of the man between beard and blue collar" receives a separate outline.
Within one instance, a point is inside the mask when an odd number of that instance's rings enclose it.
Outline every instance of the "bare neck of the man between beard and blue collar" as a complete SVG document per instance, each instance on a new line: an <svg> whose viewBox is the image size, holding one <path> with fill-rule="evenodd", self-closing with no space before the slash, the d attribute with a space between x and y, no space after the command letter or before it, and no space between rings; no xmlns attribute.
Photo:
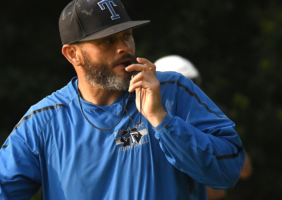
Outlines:
<svg viewBox="0 0 282 200"><path fill-rule="evenodd" d="M105 90L90 85L84 79L78 79L78 89L83 100L96 105L110 105L120 96L120 90Z"/></svg>

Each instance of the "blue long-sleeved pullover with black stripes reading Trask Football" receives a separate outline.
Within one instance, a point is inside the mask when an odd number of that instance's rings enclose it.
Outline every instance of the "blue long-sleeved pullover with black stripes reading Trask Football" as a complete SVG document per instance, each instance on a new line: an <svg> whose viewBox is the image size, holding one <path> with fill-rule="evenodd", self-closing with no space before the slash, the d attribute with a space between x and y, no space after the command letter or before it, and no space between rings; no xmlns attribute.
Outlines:
<svg viewBox="0 0 282 200"><path fill-rule="evenodd" d="M234 122L184 76L157 72L168 112L157 127L127 114L111 130L83 117L77 78L33 105L0 150L0 199L207 199L205 185L233 187L244 163ZM122 94L108 106L81 99L88 119L112 127ZM135 96L127 110L135 122Z"/></svg>

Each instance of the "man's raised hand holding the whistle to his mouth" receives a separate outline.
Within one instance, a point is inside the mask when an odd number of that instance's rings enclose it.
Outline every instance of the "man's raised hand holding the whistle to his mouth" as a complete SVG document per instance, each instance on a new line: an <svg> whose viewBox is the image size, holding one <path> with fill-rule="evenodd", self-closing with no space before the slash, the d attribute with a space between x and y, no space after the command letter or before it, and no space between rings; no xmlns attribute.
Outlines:
<svg viewBox="0 0 282 200"><path fill-rule="evenodd" d="M142 114L156 127L164 119L167 112L162 107L160 82L156 78L156 66L145 58L137 58L140 64L132 64L126 71L141 71L130 81L129 92L136 92L136 107L140 112L140 93L142 88Z"/></svg>

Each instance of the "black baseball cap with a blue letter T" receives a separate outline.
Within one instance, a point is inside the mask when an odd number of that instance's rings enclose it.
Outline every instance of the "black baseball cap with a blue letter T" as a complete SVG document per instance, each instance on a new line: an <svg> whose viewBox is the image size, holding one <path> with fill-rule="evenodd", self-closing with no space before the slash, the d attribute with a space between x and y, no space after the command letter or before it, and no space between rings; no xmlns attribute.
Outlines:
<svg viewBox="0 0 282 200"><path fill-rule="evenodd" d="M63 45L88 41L150 23L131 21L120 0L74 0L63 10L59 29Z"/></svg>

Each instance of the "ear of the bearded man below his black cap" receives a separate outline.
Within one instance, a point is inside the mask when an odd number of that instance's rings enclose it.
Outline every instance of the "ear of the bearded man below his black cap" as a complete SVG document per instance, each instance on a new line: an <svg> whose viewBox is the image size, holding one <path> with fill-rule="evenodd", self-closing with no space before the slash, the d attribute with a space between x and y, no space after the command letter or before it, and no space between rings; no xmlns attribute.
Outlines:
<svg viewBox="0 0 282 200"><path fill-rule="evenodd" d="M78 46L65 44L62 48L62 53L73 66L81 66L83 60Z"/></svg>

